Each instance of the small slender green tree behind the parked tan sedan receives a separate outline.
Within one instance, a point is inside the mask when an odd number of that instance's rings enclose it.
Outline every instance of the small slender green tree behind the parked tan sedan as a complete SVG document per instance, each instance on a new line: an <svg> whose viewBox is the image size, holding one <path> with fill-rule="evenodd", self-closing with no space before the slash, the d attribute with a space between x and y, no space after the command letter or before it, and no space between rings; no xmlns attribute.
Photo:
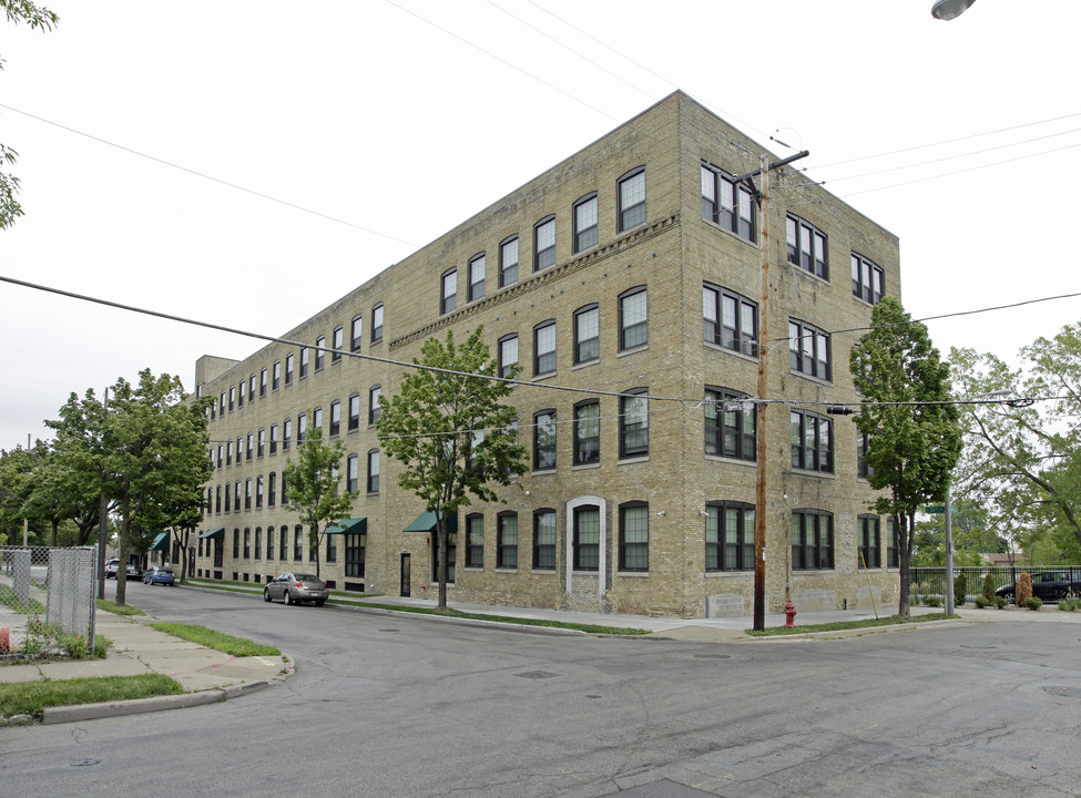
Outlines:
<svg viewBox="0 0 1081 798"><path fill-rule="evenodd" d="M357 492L339 489L345 443L324 442L318 427L307 431L296 454L296 461L289 460L282 469L282 479L288 485L287 507L308 528L308 548L315 552L315 575L322 576L319 546L327 524L349 516Z"/></svg>

